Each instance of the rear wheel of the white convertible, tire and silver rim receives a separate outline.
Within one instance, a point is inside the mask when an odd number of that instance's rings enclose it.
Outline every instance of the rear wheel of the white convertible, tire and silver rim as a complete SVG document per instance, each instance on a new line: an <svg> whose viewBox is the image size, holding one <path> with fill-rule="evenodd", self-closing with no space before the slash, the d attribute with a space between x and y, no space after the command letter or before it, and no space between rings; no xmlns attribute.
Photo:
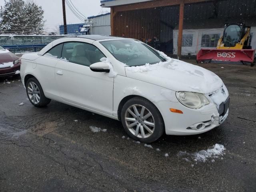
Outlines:
<svg viewBox="0 0 256 192"><path fill-rule="evenodd" d="M44 107L51 101L44 96L43 89L36 78L28 79L26 82L26 92L28 99L36 107Z"/></svg>

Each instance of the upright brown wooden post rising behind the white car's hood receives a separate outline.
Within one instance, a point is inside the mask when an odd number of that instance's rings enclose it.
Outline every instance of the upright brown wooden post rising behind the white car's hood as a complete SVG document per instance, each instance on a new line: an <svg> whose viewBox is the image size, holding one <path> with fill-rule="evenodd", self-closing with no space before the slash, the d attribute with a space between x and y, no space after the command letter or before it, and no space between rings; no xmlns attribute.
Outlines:
<svg viewBox="0 0 256 192"><path fill-rule="evenodd" d="M179 34L178 34L178 54L177 54L177 58L178 58L178 59L181 58L183 20L184 20L184 0L180 0L180 18L179 18Z"/></svg>

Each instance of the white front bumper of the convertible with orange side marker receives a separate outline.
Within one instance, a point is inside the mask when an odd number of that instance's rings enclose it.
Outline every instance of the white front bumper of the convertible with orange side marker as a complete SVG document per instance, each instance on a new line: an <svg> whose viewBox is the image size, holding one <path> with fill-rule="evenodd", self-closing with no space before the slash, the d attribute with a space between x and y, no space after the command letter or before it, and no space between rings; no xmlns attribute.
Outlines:
<svg viewBox="0 0 256 192"><path fill-rule="evenodd" d="M228 109L220 116L213 103L200 110L187 108L179 102L158 102L156 105L163 116L168 135L201 134L219 126L228 117ZM170 112L170 108L182 110L183 114ZM199 124L204 126L196 129Z"/></svg>

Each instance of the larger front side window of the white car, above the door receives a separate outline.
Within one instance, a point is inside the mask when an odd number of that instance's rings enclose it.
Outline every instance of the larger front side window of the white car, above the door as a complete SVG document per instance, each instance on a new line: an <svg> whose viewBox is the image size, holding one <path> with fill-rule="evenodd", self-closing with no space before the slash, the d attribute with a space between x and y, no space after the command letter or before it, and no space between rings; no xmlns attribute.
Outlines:
<svg viewBox="0 0 256 192"><path fill-rule="evenodd" d="M100 62L104 54L94 45L83 42L66 42L62 49L62 59L69 62L90 66Z"/></svg>

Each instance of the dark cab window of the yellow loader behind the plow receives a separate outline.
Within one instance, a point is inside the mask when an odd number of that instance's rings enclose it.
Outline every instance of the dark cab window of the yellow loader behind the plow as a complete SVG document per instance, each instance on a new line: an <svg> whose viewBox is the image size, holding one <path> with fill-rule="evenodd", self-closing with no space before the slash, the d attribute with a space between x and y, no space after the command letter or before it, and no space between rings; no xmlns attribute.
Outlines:
<svg viewBox="0 0 256 192"><path fill-rule="evenodd" d="M234 47L241 40L242 29L239 25L230 25L224 31L223 42L225 47Z"/></svg>

